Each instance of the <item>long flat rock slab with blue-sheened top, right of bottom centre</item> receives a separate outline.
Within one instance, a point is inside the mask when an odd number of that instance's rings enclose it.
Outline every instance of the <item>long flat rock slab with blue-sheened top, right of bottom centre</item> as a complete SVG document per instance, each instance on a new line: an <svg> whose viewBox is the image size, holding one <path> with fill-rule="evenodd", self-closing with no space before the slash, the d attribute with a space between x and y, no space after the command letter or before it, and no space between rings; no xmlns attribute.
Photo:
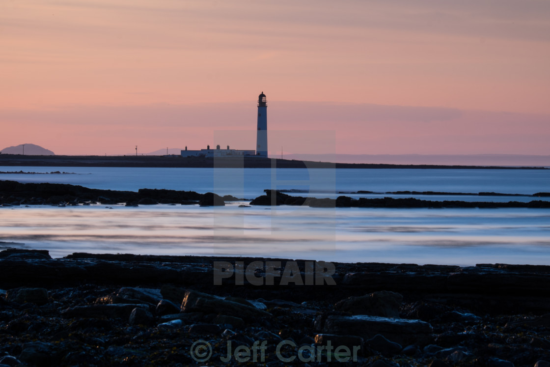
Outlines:
<svg viewBox="0 0 550 367"><path fill-rule="evenodd" d="M371 339L382 335L389 341L403 345L427 344L432 339L433 328L420 320L390 319L381 316L328 316L322 326L323 333L356 335Z"/></svg>

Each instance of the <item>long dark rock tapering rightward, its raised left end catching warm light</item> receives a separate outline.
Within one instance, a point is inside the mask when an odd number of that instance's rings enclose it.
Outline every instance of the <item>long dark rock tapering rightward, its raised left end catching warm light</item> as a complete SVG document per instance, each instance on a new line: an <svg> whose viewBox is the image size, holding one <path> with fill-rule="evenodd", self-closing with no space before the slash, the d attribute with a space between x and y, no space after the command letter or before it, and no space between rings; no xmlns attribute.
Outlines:
<svg viewBox="0 0 550 367"><path fill-rule="evenodd" d="M240 304L213 297L210 294L197 291L187 291L182 302L183 312L204 312L237 317L265 317L270 316L266 311L253 306Z"/></svg>

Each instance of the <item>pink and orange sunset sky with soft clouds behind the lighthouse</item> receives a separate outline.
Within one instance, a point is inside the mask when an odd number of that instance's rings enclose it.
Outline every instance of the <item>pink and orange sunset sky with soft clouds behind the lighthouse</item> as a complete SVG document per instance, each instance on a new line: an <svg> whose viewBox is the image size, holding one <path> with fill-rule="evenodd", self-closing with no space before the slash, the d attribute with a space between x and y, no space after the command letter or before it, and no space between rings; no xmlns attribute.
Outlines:
<svg viewBox="0 0 550 367"><path fill-rule="evenodd" d="M338 154L548 155L549 19L539 0L4 1L0 149L224 146L264 91L268 129L332 131Z"/></svg>

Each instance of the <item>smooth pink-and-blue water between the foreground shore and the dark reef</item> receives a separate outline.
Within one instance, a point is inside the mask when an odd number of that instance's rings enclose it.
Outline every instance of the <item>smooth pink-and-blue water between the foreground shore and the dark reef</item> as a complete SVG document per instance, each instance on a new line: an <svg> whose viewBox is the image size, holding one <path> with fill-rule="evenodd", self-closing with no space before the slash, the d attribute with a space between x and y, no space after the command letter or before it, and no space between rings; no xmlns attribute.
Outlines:
<svg viewBox="0 0 550 367"><path fill-rule="evenodd" d="M0 208L0 241L73 252L550 265L550 210ZM0 243L0 247L8 244Z"/></svg>

